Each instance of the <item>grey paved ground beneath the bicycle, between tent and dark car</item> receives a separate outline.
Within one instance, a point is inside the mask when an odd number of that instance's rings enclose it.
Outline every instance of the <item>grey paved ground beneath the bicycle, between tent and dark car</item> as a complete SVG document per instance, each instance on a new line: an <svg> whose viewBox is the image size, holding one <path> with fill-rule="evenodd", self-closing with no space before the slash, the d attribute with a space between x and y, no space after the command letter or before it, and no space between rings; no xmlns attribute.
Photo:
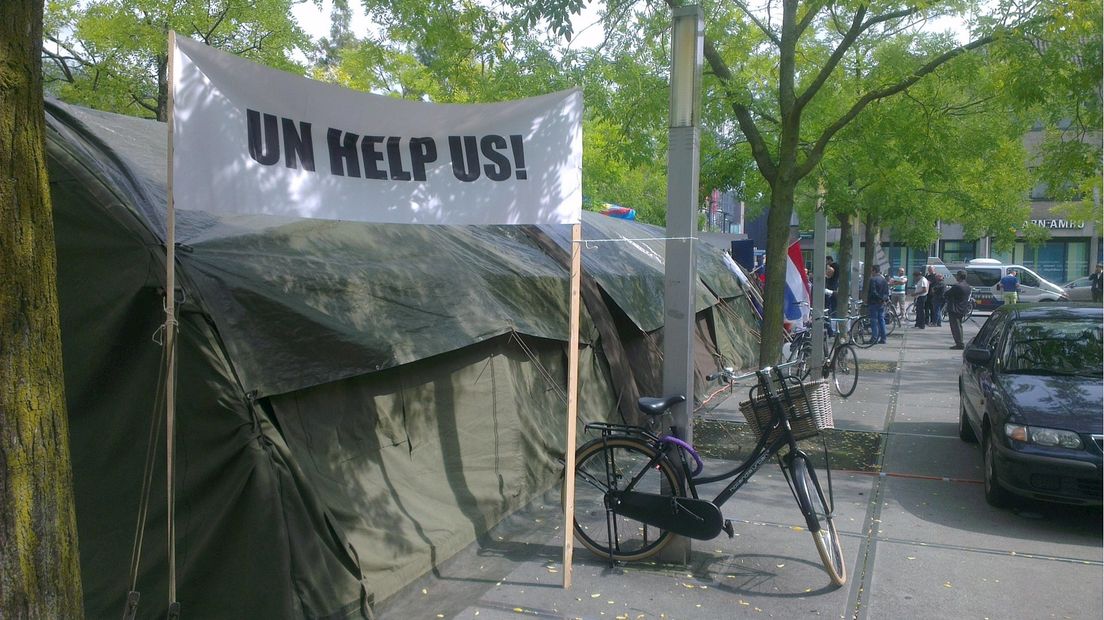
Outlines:
<svg viewBox="0 0 1104 620"><path fill-rule="evenodd" d="M966 336L984 320L967 323ZM1098 620L1101 511L1045 504L1002 511L985 503L978 448L957 437L962 352L951 344L946 324L898 330L887 345L859 351L858 389L832 402L831 442L858 446L842 467L832 457L849 573L842 587L831 587L808 532L798 527L785 480L767 466L722 509L736 536L694 541L688 565L609 568L576 544L573 585L564 590L559 493L550 492L382 601L376 613ZM696 441L739 445L741 397L700 414ZM712 471L732 464L707 460Z"/></svg>

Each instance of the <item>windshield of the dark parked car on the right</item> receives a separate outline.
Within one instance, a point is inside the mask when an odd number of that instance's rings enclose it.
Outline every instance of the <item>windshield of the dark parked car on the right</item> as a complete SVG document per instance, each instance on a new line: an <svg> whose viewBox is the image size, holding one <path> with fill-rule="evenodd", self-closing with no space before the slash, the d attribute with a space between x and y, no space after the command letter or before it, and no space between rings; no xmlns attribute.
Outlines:
<svg viewBox="0 0 1104 620"><path fill-rule="evenodd" d="M1074 319L1016 321L1001 357L1010 374L1104 376L1104 325Z"/></svg>

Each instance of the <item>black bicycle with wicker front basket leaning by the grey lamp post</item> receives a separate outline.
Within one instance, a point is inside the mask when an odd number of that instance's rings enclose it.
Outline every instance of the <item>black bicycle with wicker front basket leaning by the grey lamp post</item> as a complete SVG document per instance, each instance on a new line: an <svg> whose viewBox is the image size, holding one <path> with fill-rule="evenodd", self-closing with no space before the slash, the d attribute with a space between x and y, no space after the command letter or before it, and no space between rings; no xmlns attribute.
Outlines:
<svg viewBox="0 0 1104 620"><path fill-rule="evenodd" d="M710 381L735 382L756 377L745 415L757 435L755 448L735 469L703 475L702 460L686 441L671 434L659 436L639 426L593 423L588 431L597 437L575 451L575 537L591 552L615 562L635 562L659 553L675 535L701 541L725 532L734 535L732 522L721 515L721 505L743 487L772 457L776 458L820 562L839 586L847 581L847 568L839 534L832 522L831 471L827 471L828 493L799 439L814 437L831 426L827 386L803 384L784 375L779 367L766 367L744 375L726 368ZM676 395L644 397L641 413L652 423L686 400ZM826 413L827 410L827 413ZM750 413L749 413L750 411ZM827 449L825 450L827 464ZM692 467L691 467L692 463ZM731 479L712 500L701 499L701 484Z"/></svg>

